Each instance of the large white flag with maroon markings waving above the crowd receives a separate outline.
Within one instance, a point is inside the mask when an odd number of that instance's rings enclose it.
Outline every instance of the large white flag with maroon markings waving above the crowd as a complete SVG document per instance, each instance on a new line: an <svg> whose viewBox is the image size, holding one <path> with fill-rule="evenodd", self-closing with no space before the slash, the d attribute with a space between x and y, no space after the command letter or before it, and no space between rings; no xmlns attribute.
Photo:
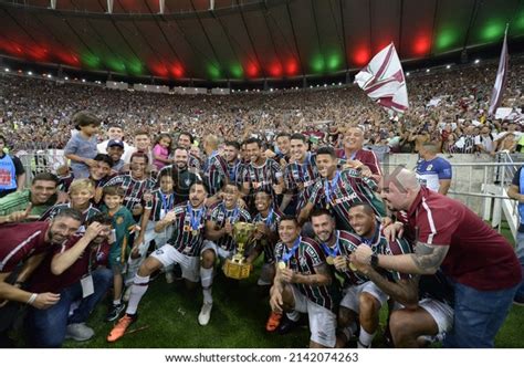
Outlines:
<svg viewBox="0 0 524 366"><path fill-rule="evenodd" d="M355 83L385 108L399 113L408 109L406 79L392 43L371 59L355 76Z"/></svg>

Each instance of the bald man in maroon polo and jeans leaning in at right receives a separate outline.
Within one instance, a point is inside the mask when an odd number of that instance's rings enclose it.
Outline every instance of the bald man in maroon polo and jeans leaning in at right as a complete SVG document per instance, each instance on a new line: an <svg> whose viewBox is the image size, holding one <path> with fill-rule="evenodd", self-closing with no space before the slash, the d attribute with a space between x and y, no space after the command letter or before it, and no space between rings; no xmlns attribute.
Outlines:
<svg viewBox="0 0 524 366"><path fill-rule="evenodd" d="M404 222L389 231L406 227L415 232L415 253L377 255L359 245L355 260L412 274L433 274L440 268L453 283L455 299L454 325L444 346L493 347L522 276L510 243L461 202L421 187L410 170L396 169L385 179L381 196L391 211L405 212Z"/></svg>

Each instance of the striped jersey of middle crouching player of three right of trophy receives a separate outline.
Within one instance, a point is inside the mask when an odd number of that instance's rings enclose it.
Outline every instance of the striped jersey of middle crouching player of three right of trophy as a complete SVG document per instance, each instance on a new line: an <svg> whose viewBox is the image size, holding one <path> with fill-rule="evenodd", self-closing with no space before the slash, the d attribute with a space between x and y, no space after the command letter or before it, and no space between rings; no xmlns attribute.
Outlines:
<svg viewBox="0 0 524 366"><path fill-rule="evenodd" d="M337 240L333 245L321 243L321 248L324 251L326 258L329 255L343 255L349 259L349 255L357 249L358 245L361 244L360 238L354 233L350 233L349 231L335 230L334 234L336 236ZM359 274L358 272L354 272L350 269L345 271L338 271L335 269L335 266L333 266L333 269L343 276L345 287L359 285L369 281L366 276Z"/></svg>

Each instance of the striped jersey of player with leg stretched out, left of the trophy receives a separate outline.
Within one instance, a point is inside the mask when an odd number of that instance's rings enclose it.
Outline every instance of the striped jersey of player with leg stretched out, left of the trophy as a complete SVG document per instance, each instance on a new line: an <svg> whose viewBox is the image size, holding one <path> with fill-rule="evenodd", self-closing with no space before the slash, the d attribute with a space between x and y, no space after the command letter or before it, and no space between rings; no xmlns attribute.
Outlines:
<svg viewBox="0 0 524 366"><path fill-rule="evenodd" d="M195 209L189 201L179 203L172 209L176 213L172 222L172 236L168 243L188 257L200 255L206 223L206 207ZM196 231L195 231L196 230ZM193 234L193 231L196 234Z"/></svg>

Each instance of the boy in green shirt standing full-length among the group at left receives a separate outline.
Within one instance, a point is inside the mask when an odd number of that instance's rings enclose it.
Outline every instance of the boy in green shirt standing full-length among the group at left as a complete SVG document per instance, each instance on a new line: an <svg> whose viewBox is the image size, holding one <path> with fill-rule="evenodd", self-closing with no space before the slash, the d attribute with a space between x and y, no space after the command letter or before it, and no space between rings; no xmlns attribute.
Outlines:
<svg viewBox="0 0 524 366"><path fill-rule="evenodd" d="M113 230L115 232L115 241L109 250L109 265L113 270L113 306L107 314L106 321L112 322L118 318L124 304L122 303L122 292L124 286L123 273L126 272L126 263L129 253L135 252L135 248L129 250L129 237L135 231L136 222L132 212L123 206L124 189L120 187L108 186L103 190L104 206L103 212L113 219Z"/></svg>

